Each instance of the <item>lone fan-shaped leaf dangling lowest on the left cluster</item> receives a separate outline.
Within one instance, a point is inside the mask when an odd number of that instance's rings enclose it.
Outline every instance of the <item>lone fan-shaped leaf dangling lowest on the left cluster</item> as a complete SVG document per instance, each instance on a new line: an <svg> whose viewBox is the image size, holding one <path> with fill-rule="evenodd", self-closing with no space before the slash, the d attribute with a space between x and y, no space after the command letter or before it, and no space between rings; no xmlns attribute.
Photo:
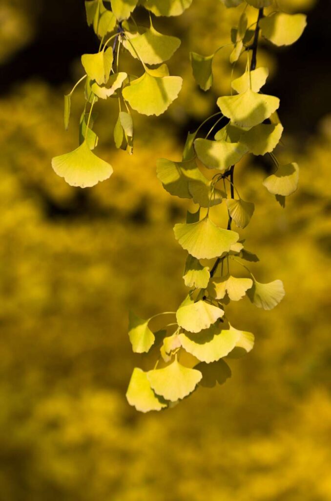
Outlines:
<svg viewBox="0 0 331 501"><path fill-rule="evenodd" d="M81 188L94 186L112 174L111 165L94 155L86 141L70 153L52 158L51 165L70 186Z"/></svg>

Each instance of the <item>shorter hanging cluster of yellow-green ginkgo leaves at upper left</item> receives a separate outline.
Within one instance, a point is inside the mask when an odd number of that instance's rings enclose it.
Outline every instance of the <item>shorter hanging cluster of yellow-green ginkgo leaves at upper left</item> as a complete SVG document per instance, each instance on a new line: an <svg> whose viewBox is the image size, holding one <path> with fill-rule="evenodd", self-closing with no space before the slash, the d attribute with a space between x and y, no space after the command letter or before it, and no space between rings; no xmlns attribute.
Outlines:
<svg viewBox="0 0 331 501"><path fill-rule="evenodd" d="M88 0L85 2L87 24L93 27L100 40L98 52L83 54L81 64L85 74L64 96L64 126L67 129L72 93L80 82L85 82L85 106L79 123L79 146L56 156L52 167L71 186L94 186L107 179L112 166L97 157L92 150L98 137L92 130L93 107L101 99L118 100L118 118L114 126L114 144L129 154L133 151L133 109L143 115L160 115L177 98L182 79L169 76L164 63L180 45L176 37L163 35L152 24L154 16L178 16L192 0ZM146 9L149 27L139 26L132 13L137 6ZM137 77L119 71L121 47L137 59L142 75ZM152 66L152 68L150 68ZM125 111L123 111L123 108Z"/></svg>

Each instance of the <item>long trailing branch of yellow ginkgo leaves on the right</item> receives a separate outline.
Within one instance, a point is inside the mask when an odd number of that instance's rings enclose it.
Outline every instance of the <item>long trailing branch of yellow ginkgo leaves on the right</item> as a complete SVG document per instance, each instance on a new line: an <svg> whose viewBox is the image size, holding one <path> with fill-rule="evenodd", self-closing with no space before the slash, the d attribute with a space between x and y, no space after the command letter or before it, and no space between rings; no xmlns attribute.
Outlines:
<svg viewBox="0 0 331 501"><path fill-rule="evenodd" d="M223 3L237 7L242 2ZM243 200L234 185L235 164L245 154L269 155L275 172L263 185L282 206L285 197L297 189L297 164L279 164L273 153L283 131L276 112L279 99L260 92L268 70L256 68L256 53L260 33L276 46L295 42L304 30L305 16L285 14L276 5L267 13L264 8L271 4L270 0L247 0L237 27L231 29L230 63L234 67L246 54L246 69L232 80L231 94L217 99L220 111L207 118L214 120L209 132L204 138L197 137L206 120L188 133L181 161L160 159L157 163L164 189L191 199L198 207L193 213L187 211L186 222L173 228L175 238L188 252L183 274L190 289L187 297L176 312L148 320L130 315L133 351L150 353L154 359L152 370L133 370L126 393L128 402L142 412L173 406L198 385L211 387L224 382L230 375L224 358L252 349L253 334L234 328L225 314L229 302L247 295L256 307L271 310L284 296L280 280L262 284L254 278L244 262L257 262L258 258L244 248L244 240L231 229L232 221L237 228L245 228L254 212L254 204ZM258 15L253 26L248 26L246 9L251 7ZM214 54L190 54L193 76L202 90L212 85ZM217 130L222 121L225 124ZM212 132L214 139L210 140ZM226 228L214 222L219 214L217 205L223 200ZM233 262L242 266L244 274L231 275Z"/></svg>

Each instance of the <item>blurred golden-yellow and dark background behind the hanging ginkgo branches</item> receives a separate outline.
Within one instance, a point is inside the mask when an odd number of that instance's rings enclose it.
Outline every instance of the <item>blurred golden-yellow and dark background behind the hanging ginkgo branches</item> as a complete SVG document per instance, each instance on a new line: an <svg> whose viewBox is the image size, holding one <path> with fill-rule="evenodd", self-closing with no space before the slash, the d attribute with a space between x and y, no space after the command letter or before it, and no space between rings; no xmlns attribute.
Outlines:
<svg viewBox="0 0 331 501"><path fill-rule="evenodd" d="M281 279L287 294L271 312L246 299L231 311L256 344L226 384L144 415L124 396L138 362L127 310L172 311L185 294L172 226L187 201L162 189L155 161L180 158L187 130L228 92L227 50L207 94L188 51L228 42L238 14L193 0L180 18L155 21L182 39L170 69L183 91L164 116L135 115L132 157L112 146L116 108L98 104L97 151L114 174L81 190L50 158L77 145L82 89L67 132L62 96L82 75L80 55L97 48L83 2L1 0L0 501L331 499L331 4L285 4L307 13L307 28L292 47L262 44L258 63L270 68L265 92L280 97L279 155L299 163L299 190L282 209L261 185L271 168L261 158L244 160L236 182L256 202L242 232L260 258L256 278ZM135 68L125 55L121 64Z"/></svg>

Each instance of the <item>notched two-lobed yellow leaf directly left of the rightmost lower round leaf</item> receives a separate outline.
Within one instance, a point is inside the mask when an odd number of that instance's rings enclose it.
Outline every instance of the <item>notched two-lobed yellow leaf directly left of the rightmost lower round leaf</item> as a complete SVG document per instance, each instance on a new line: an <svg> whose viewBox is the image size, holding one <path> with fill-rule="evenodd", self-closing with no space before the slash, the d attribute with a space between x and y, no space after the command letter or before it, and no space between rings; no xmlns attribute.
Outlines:
<svg viewBox="0 0 331 501"><path fill-rule="evenodd" d="M214 299L221 300L227 293L231 301L239 301L245 296L246 291L252 285L253 281L251 279L236 278L227 275L226 277L217 277L210 280L207 290L209 295Z"/></svg>

